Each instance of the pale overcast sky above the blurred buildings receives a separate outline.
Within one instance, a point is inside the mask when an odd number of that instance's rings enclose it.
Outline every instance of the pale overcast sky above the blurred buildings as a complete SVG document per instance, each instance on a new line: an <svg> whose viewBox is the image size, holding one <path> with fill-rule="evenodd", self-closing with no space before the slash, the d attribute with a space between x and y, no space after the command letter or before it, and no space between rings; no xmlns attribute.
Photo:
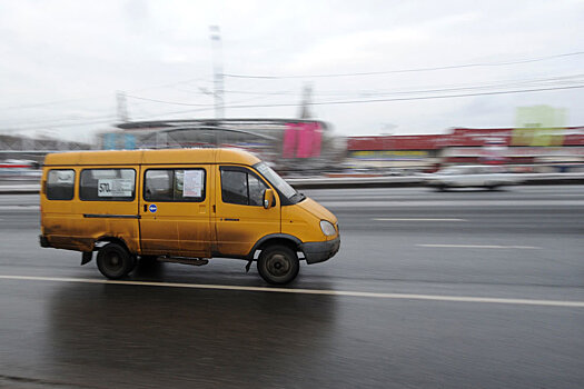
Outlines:
<svg viewBox="0 0 584 389"><path fill-rule="evenodd" d="M212 24L228 118L295 118L310 84L339 134L513 127L534 104L584 126L583 20L575 0L4 0L0 132L89 140L117 91L131 120L215 117Z"/></svg>

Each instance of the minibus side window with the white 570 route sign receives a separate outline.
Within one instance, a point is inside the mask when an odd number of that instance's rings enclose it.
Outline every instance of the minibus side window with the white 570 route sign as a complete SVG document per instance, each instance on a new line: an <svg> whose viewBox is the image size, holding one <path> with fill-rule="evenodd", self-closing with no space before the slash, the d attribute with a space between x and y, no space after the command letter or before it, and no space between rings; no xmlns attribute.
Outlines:
<svg viewBox="0 0 584 389"><path fill-rule="evenodd" d="M83 169L79 198L83 201L132 201L136 194L133 169Z"/></svg>

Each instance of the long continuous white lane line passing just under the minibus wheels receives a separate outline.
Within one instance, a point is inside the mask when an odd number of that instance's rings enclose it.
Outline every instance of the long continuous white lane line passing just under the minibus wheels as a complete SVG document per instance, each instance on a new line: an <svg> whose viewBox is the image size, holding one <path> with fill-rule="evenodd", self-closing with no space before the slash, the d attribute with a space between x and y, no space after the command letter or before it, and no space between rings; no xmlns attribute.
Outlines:
<svg viewBox="0 0 584 389"><path fill-rule="evenodd" d="M296 295L321 295L321 296L345 296L364 297L394 300L427 300L427 301L451 301L451 302L488 302L524 306L545 306L545 307L576 307L584 308L584 301L575 300L534 300L534 299L508 299L493 297L468 297L468 296L441 296L441 295L409 295L409 293L377 293L350 290L326 290L326 289L290 289L290 288L267 288L267 287L240 287L231 285L207 285L207 283L174 283L174 282L146 282L146 281L112 281L106 279L89 278L62 278L62 277L31 277L31 276L7 276L0 275L4 280L22 281L50 281L50 282L80 282L100 285L125 285L140 287L166 287L166 288L187 288L187 289L212 289L212 290L238 290L258 291L275 293L296 293Z"/></svg>

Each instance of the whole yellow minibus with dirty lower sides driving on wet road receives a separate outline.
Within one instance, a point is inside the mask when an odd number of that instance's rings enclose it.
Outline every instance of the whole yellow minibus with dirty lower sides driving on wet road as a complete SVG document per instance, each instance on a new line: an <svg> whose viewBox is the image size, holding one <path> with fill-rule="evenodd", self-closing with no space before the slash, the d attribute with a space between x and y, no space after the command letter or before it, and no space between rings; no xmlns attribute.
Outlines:
<svg viewBox="0 0 584 389"><path fill-rule="evenodd" d="M40 245L97 251L109 279L138 258L207 265L257 261L269 283L296 278L299 260L339 249L337 218L266 162L236 149L81 151L48 154L40 194Z"/></svg>

